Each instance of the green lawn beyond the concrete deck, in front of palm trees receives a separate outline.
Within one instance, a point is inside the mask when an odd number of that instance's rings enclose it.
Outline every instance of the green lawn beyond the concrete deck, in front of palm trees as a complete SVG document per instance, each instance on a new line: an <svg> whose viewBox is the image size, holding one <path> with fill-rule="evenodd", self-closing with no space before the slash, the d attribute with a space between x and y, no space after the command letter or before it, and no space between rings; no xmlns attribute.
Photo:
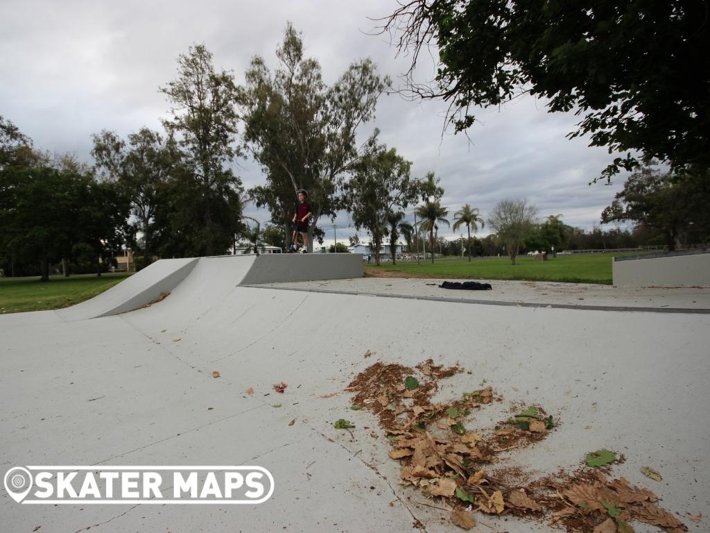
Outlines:
<svg viewBox="0 0 710 533"><path fill-rule="evenodd" d="M366 265L366 275L396 277L428 277L451 279L524 279L528 281L566 281L568 283L599 283L611 285L611 264L614 254L558 255L547 261L532 257L517 257L510 264L508 257L482 259L442 258L424 261L387 262L382 266ZM620 255L620 254L617 254Z"/></svg>

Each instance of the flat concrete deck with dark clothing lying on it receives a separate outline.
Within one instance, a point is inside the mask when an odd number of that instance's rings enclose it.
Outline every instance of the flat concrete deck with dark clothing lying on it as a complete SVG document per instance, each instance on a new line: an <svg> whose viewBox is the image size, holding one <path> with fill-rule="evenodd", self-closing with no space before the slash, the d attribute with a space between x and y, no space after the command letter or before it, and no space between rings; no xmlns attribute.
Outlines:
<svg viewBox="0 0 710 533"><path fill-rule="evenodd" d="M547 281L477 280L490 283L490 291L441 289L443 279L364 278L281 282L264 287L297 291L333 292L371 296L403 296L474 303L500 303L572 308L677 309L710 312L710 287L619 287L612 285L551 283Z"/></svg>

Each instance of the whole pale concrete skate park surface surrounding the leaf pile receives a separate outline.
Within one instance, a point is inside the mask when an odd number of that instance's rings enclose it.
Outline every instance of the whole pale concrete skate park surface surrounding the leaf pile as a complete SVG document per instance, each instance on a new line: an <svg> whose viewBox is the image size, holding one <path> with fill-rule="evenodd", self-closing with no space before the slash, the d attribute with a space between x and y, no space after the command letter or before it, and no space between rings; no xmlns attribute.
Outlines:
<svg viewBox="0 0 710 533"><path fill-rule="evenodd" d="M542 475L616 451L625 461L610 477L653 490L690 532L707 530L687 517L710 515L710 289L491 281L454 298L437 280L364 278L359 254L163 261L76 309L0 316L2 473L259 465L273 495L21 505L0 488L3 531L459 532L450 507L400 483L377 417L351 409L360 372L430 358L463 370L435 401L488 385L501 397L469 428L493 431L522 405L555 417L544 440L504 451L501 465ZM339 419L354 427L337 429ZM474 531L554 530L475 516L487 527Z"/></svg>

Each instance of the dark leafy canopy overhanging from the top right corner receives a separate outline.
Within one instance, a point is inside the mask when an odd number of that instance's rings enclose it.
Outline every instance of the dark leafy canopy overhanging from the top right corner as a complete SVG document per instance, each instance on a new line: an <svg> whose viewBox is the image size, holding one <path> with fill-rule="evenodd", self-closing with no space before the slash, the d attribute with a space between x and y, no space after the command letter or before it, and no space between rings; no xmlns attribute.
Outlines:
<svg viewBox="0 0 710 533"><path fill-rule="evenodd" d="M476 106L539 95L550 112L581 116L569 137L627 152L603 170L611 179L638 166L636 152L710 168L709 9L701 0L401 0L381 29L412 68L422 47L437 46L435 84L409 90L449 102L457 131L474 124Z"/></svg>

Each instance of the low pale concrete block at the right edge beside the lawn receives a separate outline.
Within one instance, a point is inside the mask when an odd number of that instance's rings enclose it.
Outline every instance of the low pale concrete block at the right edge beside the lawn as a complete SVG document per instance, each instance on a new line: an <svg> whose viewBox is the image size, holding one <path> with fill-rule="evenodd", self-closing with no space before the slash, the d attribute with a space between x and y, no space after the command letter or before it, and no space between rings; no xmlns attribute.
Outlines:
<svg viewBox="0 0 710 533"><path fill-rule="evenodd" d="M710 252L615 259L612 274L615 285L710 287Z"/></svg>

